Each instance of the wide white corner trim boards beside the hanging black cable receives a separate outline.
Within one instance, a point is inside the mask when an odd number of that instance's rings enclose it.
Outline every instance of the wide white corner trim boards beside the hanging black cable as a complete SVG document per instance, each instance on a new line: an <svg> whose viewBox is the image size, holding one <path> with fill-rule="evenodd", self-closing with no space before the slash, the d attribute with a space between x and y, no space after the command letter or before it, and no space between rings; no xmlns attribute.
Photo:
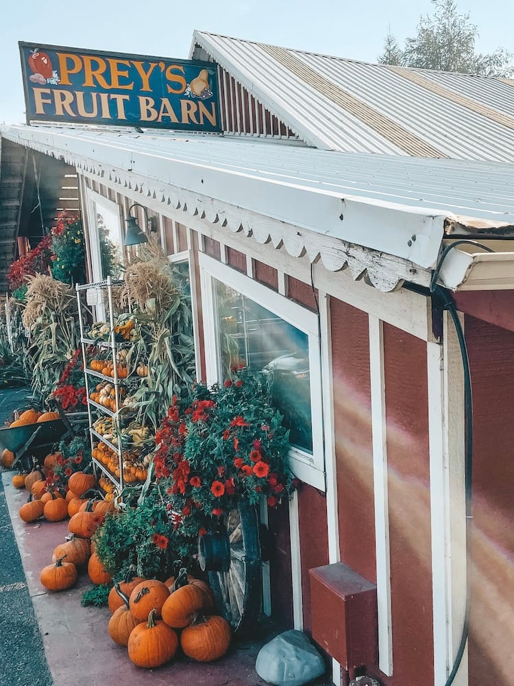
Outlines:
<svg viewBox="0 0 514 686"><path fill-rule="evenodd" d="M466 598L464 386L458 340L427 343L435 686L444 686L461 639ZM467 652L454 686L467 686Z"/></svg>

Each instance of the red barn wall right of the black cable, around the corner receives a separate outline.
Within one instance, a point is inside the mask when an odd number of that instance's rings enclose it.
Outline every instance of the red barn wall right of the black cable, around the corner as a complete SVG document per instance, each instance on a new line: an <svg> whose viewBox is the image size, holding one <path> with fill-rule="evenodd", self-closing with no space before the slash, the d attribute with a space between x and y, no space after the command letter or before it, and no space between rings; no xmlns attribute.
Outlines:
<svg viewBox="0 0 514 686"><path fill-rule="evenodd" d="M474 405L469 686L514 675L514 333L467 316Z"/></svg>

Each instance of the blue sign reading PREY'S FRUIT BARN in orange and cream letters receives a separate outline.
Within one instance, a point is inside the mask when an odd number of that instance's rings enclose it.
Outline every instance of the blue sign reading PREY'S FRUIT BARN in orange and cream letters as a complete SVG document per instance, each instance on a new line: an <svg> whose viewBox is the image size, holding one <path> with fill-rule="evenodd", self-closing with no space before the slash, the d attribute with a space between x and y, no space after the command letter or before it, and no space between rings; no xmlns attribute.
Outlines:
<svg viewBox="0 0 514 686"><path fill-rule="evenodd" d="M221 131L217 67L19 43L27 123Z"/></svg>

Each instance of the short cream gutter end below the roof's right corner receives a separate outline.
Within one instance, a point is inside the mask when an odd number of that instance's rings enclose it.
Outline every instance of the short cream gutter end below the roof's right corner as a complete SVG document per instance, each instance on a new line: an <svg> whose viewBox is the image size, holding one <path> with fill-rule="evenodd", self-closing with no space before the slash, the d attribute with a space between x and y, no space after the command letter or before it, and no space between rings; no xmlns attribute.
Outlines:
<svg viewBox="0 0 514 686"><path fill-rule="evenodd" d="M464 252L445 257L439 283L452 291L514 289L514 252Z"/></svg>

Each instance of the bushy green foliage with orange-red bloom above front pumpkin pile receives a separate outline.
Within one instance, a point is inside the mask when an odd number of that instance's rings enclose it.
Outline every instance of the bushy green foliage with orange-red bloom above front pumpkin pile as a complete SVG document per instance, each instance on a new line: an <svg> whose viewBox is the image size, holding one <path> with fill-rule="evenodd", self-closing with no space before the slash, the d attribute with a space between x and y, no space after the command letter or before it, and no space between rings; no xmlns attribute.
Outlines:
<svg viewBox="0 0 514 686"><path fill-rule="evenodd" d="M93 539L97 554L114 581L130 570L137 576L164 580L171 575L173 560L191 554L171 528L169 510L160 488L155 487L136 507L106 515ZM180 543L180 546L178 545Z"/></svg>

